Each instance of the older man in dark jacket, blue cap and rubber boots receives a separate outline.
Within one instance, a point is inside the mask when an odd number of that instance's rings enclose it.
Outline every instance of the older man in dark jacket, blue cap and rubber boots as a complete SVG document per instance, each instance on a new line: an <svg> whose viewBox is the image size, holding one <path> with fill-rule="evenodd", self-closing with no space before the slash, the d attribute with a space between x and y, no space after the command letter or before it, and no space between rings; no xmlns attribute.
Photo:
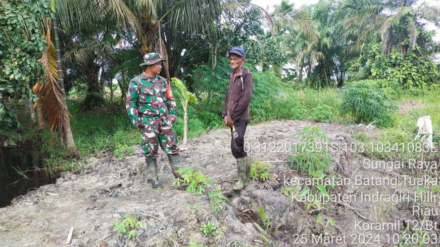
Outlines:
<svg viewBox="0 0 440 247"><path fill-rule="evenodd" d="M250 158L244 151L244 133L249 121L249 102L253 91L252 72L244 69L246 54L241 47L232 47L229 51L229 63L232 71L229 74L228 92L223 105L222 117L225 124L231 127L231 151L237 159L238 178L228 180L236 182L234 190L243 189L250 171Z"/></svg>

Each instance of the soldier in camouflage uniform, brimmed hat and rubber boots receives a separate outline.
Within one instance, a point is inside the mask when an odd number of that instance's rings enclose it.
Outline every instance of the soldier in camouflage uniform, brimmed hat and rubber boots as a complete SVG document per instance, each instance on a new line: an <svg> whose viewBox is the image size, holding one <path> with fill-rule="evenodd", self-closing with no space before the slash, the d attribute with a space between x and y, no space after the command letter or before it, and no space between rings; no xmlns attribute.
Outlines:
<svg viewBox="0 0 440 247"><path fill-rule="evenodd" d="M153 189L163 188L157 176L158 145L168 155L174 176L183 179L177 171L181 157L172 126L177 119L176 102L167 80L159 76L162 61L165 60L158 53L144 55L140 64L144 72L130 81L126 101L128 116L141 131L141 146Z"/></svg>

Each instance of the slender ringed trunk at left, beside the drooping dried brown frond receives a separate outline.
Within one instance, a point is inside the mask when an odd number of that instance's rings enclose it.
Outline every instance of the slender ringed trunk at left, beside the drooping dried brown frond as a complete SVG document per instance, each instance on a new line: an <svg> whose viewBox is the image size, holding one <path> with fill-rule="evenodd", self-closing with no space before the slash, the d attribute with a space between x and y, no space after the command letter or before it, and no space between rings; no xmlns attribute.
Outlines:
<svg viewBox="0 0 440 247"><path fill-rule="evenodd" d="M61 65L61 48L59 45L59 36L58 36L58 19L56 18L56 8L55 8L55 0L50 0L50 8L53 12L53 18L52 18L52 25L53 25L53 38L55 40L55 55L56 55L56 64L57 64L57 68L58 68L58 83L59 83L59 87L61 89L61 95L63 97L63 102L64 105L67 109L67 104L66 104L66 92L64 91L64 80L63 80L63 70L62 70L62 65ZM67 118L68 115L67 115ZM70 120L69 120L70 122ZM75 141L73 140L73 135L72 135L72 129L70 127L70 124L68 124L68 127L65 130L65 140L64 144L66 145L67 149L75 149Z"/></svg>

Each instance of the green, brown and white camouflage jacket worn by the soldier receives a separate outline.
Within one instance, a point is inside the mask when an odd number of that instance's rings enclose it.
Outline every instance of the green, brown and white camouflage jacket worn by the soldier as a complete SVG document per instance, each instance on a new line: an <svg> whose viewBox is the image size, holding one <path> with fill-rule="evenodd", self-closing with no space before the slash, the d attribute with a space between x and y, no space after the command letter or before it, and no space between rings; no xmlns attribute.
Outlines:
<svg viewBox="0 0 440 247"><path fill-rule="evenodd" d="M128 86L126 109L128 116L135 126L149 125L162 119L171 124L169 115L177 116L174 98L168 99L165 91L168 82L165 78L156 75L149 78L145 73L134 77Z"/></svg>

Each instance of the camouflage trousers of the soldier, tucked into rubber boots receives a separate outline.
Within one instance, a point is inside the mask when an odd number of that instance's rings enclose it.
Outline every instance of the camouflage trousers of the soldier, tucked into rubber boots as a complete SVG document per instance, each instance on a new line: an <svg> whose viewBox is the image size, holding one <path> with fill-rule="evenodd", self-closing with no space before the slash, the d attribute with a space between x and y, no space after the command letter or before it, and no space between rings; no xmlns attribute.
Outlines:
<svg viewBox="0 0 440 247"><path fill-rule="evenodd" d="M180 151L173 126L156 119L141 128L141 147L144 150L144 156L157 159L159 145L167 155L178 154Z"/></svg>

